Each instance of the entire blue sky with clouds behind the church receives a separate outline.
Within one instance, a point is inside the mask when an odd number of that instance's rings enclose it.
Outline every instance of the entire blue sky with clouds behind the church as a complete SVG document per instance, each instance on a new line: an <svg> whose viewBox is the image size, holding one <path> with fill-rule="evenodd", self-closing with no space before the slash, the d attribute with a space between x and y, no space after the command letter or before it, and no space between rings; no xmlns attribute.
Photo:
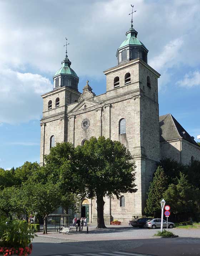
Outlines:
<svg viewBox="0 0 200 256"><path fill-rule="evenodd" d="M105 93L103 71L117 65L130 4L148 64L161 74L159 114L200 134L199 0L0 0L0 167L39 162L41 95L53 89L65 37L79 91L89 80Z"/></svg>

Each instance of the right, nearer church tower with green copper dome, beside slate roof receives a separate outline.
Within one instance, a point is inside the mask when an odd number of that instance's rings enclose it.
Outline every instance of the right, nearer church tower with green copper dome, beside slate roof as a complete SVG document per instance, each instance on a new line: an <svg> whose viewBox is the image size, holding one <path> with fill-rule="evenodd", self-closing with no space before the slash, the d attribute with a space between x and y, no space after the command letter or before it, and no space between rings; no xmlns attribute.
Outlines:
<svg viewBox="0 0 200 256"><path fill-rule="evenodd" d="M126 132L116 134L111 130L111 139L123 143L136 163L138 190L134 195L124 195L127 196L130 207L119 208L116 219L123 219L126 214L130 216L131 211L134 216L144 214L149 182L152 180L156 163L160 160L157 84L160 74L147 64L148 50L137 38L137 34L131 20L126 39L116 52L118 65L104 71L106 94L113 95L119 101L111 107L112 125L115 118L124 119L126 122ZM115 205L112 208L115 208Z"/></svg>

